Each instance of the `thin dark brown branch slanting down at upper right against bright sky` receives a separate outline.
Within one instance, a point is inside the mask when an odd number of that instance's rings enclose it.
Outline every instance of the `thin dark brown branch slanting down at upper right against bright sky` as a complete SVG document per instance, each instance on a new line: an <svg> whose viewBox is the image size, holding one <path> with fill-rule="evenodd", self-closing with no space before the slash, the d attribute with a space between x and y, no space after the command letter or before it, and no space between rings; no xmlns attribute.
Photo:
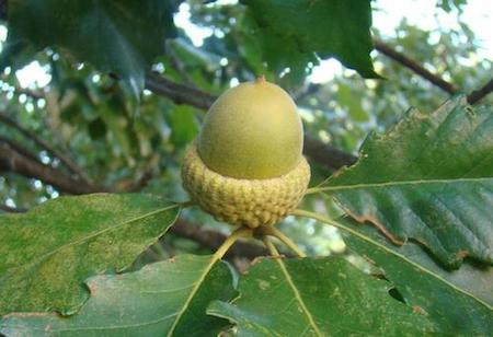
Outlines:
<svg viewBox="0 0 493 337"><path fill-rule="evenodd" d="M374 47L381 54L393 59L394 61L398 61L402 66L411 69L412 71L414 71L422 78L428 80L429 82L432 82L436 86L440 88L442 90L446 91L447 93L452 95L458 92L458 89L454 84L451 84L451 83L445 81L444 79L439 78L438 75L432 73L429 70L427 70L423 66L419 65L416 61L412 60L404 54L394 50L389 45L387 45L380 40L374 40Z"/></svg>

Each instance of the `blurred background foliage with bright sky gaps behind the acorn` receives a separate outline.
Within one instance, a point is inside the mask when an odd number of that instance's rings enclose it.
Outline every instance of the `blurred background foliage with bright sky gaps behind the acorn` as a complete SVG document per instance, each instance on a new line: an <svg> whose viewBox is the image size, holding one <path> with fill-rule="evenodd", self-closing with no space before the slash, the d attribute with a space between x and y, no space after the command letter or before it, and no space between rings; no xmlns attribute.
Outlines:
<svg viewBox="0 0 493 337"><path fill-rule="evenodd" d="M410 22L403 13L397 18L398 25L389 30L383 22L388 1L374 1L371 33L374 38L469 93L491 79L493 66L491 55L484 53L484 42L463 20L472 2L481 5L480 1L438 0L431 13L435 26ZM176 8L177 36L167 40L165 53L153 61L153 71L214 95L263 73L296 98L307 133L353 154L357 154L368 132L385 131L409 107L433 111L449 97L377 50L370 56L382 79L364 79L336 60L322 61L321 66L318 59L298 63L286 55L286 46L273 48L278 57L287 57L291 67L266 67L261 48L265 42L253 33L259 27L245 5L238 1L188 0L176 2ZM443 18L454 24L442 25ZM3 42L7 27L0 30ZM20 70L7 68L0 77L2 116L64 153L89 182L105 190L145 191L186 200L180 163L184 149L197 135L204 111L175 104L148 90L135 103L118 77L98 71L89 62L81 63L62 48L45 48L35 57L26 51L24 57L27 66ZM493 102L491 96L484 101ZM42 163L70 174L60 159L10 125L0 123L0 137L21 144ZM312 184L332 173L314 162L312 170ZM60 195L62 190L41 179L0 173L3 210L30 209ZM303 202L305 208L337 213L329 200L307 197ZM220 232L229 231L195 209L183 217ZM299 225L299 220L288 218L282 225L312 254L343 252L344 244L335 230L303 221ZM170 237L164 254L204 251L192 241Z"/></svg>

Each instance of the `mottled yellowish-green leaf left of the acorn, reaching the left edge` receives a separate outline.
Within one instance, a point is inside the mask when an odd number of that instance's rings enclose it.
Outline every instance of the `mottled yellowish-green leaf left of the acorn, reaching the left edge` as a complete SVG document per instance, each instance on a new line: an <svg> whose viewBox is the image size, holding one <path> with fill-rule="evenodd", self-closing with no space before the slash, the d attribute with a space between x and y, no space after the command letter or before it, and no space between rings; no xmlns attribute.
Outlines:
<svg viewBox="0 0 493 337"><path fill-rule="evenodd" d="M98 194L1 216L0 316L76 312L88 298L88 277L130 266L179 210L156 196Z"/></svg>

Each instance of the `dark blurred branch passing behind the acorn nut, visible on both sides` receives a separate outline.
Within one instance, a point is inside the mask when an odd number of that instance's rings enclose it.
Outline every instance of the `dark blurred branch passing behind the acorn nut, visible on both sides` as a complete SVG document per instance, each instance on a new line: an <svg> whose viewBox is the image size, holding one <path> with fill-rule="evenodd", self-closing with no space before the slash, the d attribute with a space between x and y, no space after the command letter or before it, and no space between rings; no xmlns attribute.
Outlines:
<svg viewBox="0 0 493 337"><path fill-rule="evenodd" d="M208 109L217 98L217 96L198 89L177 84L154 73L150 73L147 77L146 86L176 104L188 104L202 109ZM349 153L324 144L319 140L310 139L307 136L305 137L303 153L331 171L339 170L342 166L349 166L356 160Z"/></svg>

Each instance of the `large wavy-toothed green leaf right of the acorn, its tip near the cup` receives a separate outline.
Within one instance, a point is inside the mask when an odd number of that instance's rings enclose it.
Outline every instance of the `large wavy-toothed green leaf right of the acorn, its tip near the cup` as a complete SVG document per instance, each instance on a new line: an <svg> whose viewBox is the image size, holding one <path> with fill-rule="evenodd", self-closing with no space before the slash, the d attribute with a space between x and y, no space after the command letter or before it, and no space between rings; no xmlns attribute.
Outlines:
<svg viewBox="0 0 493 337"><path fill-rule="evenodd" d="M414 239L447 267L466 256L493 264L493 111L463 97L434 113L411 109L316 190L394 244Z"/></svg>

